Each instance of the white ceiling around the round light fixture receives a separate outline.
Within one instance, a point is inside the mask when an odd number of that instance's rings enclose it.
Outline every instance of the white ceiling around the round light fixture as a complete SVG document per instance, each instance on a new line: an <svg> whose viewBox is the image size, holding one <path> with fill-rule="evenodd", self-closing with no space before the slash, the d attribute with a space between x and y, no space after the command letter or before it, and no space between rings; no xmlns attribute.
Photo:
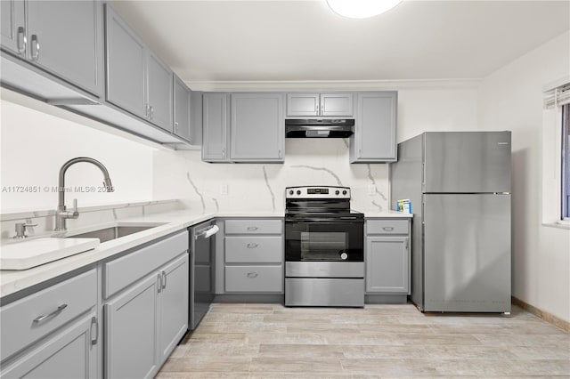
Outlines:
<svg viewBox="0 0 570 379"><path fill-rule="evenodd" d="M570 29L570 1L111 1L185 82L481 78ZM569 47L570 49L570 47Z"/></svg>

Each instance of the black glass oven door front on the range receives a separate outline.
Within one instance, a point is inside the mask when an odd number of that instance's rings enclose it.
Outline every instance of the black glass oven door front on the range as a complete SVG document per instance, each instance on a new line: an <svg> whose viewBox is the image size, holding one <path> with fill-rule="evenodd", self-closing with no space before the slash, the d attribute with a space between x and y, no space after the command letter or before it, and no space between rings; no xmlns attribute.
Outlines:
<svg viewBox="0 0 570 379"><path fill-rule="evenodd" d="M285 220L285 261L364 262L363 220Z"/></svg>

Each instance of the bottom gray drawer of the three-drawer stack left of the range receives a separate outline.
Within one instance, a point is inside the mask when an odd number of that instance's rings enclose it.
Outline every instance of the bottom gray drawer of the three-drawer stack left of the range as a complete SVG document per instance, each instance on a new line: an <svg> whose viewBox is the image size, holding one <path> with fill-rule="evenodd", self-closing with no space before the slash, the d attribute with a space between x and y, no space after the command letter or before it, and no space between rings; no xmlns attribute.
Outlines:
<svg viewBox="0 0 570 379"><path fill-rule="evenodd" d="M283 266L225 266L225 292L283 292Z"/></svg>

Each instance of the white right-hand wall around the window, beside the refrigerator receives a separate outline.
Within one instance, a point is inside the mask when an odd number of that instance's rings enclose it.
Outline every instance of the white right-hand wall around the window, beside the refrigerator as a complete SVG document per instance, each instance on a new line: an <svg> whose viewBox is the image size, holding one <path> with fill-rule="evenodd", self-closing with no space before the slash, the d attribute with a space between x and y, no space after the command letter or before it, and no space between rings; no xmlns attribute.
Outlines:
<svg viewBox="0 0 570 379"><path fill-rule="evenodd" d="M485 77L479 123L511 130L513 295L570 321L570 230L542 224L543 86L570 74L570 32ZM551 125L545 125L550 127Z"/></svg>

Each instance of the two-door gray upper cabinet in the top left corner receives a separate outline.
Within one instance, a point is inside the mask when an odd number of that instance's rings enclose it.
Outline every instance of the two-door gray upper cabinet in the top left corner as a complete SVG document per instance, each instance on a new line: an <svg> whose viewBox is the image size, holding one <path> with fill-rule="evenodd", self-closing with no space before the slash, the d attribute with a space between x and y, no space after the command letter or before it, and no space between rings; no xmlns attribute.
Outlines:
<svg viewBox="0 0 570 379"><path fill-rule="evenodd" d="M103 93L100 0L0 2L2 49L99 97Z"/></svg>

